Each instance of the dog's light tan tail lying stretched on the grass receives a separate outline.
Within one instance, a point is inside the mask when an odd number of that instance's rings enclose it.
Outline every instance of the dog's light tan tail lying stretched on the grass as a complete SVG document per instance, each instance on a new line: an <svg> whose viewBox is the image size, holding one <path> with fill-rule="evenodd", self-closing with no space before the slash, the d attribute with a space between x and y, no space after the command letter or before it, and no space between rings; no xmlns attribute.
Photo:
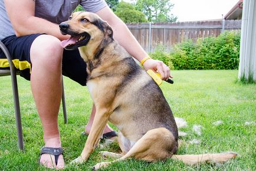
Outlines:
<svg viewBox="0 0 256 171"><path fill-rule="evenodd" d="M181 160L187 165L199 165L201 163L224 163L229 159L237 157L237 153L224 152L215 154L186 154L186 155L173 155L171 158L174 160Z"/></svg>

